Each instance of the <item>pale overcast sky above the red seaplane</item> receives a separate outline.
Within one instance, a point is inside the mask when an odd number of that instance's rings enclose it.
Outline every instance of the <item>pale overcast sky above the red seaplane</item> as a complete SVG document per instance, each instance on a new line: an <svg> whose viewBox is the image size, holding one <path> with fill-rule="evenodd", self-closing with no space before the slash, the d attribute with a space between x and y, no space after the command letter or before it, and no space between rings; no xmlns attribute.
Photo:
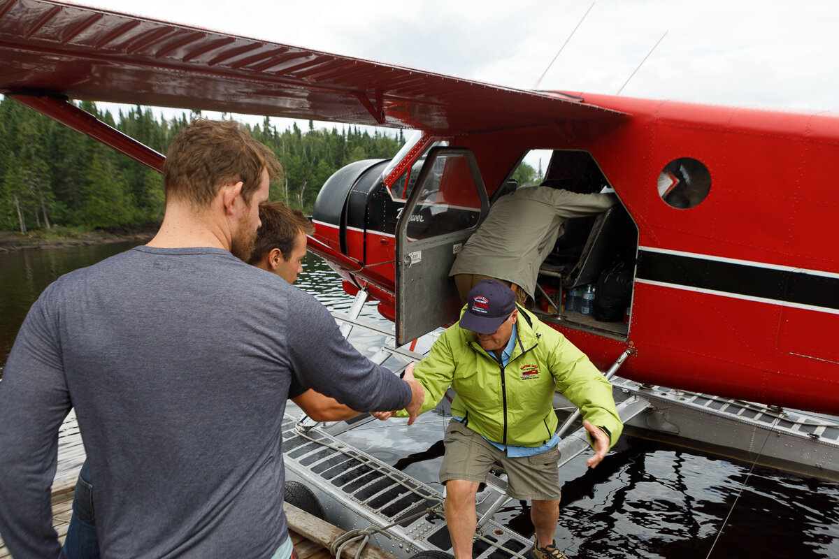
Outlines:
<svg viewBox="0 0 839 559"><path fill-rule="evenodd" d="M77 0L531 89L591 0ZM540 89L839 112L839 2L597 0ZM515 5L515 7L513 7ZM287 124L277 119L277 126Z"/></svg>

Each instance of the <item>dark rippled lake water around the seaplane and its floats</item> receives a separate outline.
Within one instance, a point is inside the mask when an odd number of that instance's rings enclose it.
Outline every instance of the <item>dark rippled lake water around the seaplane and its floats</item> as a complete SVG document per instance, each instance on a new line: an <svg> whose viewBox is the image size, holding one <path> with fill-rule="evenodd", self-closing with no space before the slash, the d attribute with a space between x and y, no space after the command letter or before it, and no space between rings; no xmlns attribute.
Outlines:
<svg viewBox="0 0 839 559"><path fill-rule="evenodd" d="M0 254L0 364L44 287L62 273L130 246ZM297 285L331 310L346 310L352 303L336 274L311 255ZM362 314L385 323L373 305ZM446 418L426 414L413 427L371 427L350 438L436 486L442 450L435 441L445 425ZM584 462L585 457L577 458L560 470L564 486L556 542L576 559L839 559L839 484L834 482L752 469L748 463L636 437L622 437L594 470ZM497 518L532 533L529 510L518 501Z"/></svg>

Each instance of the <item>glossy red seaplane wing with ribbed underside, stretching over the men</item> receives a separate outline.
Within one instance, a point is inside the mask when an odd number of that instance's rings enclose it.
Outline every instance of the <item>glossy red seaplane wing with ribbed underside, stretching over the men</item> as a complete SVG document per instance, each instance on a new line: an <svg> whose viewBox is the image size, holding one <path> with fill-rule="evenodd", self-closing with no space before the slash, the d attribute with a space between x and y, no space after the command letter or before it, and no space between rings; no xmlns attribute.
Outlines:
<svg viewBox="0 0 839 559"><path fill-rule="evenodd" d="M446 135L620 115L571 96L44 0L0 3L0 92Z"/></svg>

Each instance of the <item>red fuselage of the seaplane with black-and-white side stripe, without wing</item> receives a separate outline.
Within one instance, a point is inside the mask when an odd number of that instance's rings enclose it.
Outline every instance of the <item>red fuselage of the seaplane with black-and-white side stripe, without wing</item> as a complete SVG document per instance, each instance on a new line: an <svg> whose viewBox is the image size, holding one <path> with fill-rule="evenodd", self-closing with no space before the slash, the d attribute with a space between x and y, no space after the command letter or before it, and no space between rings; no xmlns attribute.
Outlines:
<svg viewBox="0 0 839 559"><path fill-rule="evenodd" d="M839 119L582 97L628 116L451 139L474 153L490 195L529 149L589 153L637 225L628 334L552 325L602 368L633 346L621 370L633 380L839 412ZM678 158L711 175L695 207L671 207L657 189ZM315 226L393 279L392 226Z"/></svg>

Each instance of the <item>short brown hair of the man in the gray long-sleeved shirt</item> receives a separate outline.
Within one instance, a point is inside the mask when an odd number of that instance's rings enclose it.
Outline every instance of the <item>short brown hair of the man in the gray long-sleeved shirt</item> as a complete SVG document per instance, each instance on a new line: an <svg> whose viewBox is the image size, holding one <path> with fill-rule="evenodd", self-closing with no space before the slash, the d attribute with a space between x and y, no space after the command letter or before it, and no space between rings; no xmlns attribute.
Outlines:
<svg viewBox="0 0 839 559"><path fill-rule="evenodd" d="M197 119L178 132L163 166L166 199L189 200L206 207L218 189L242 181L242 198L250 204L263 169L274 179L283 168L274 153L251 137L238 122Z"/></svg>

